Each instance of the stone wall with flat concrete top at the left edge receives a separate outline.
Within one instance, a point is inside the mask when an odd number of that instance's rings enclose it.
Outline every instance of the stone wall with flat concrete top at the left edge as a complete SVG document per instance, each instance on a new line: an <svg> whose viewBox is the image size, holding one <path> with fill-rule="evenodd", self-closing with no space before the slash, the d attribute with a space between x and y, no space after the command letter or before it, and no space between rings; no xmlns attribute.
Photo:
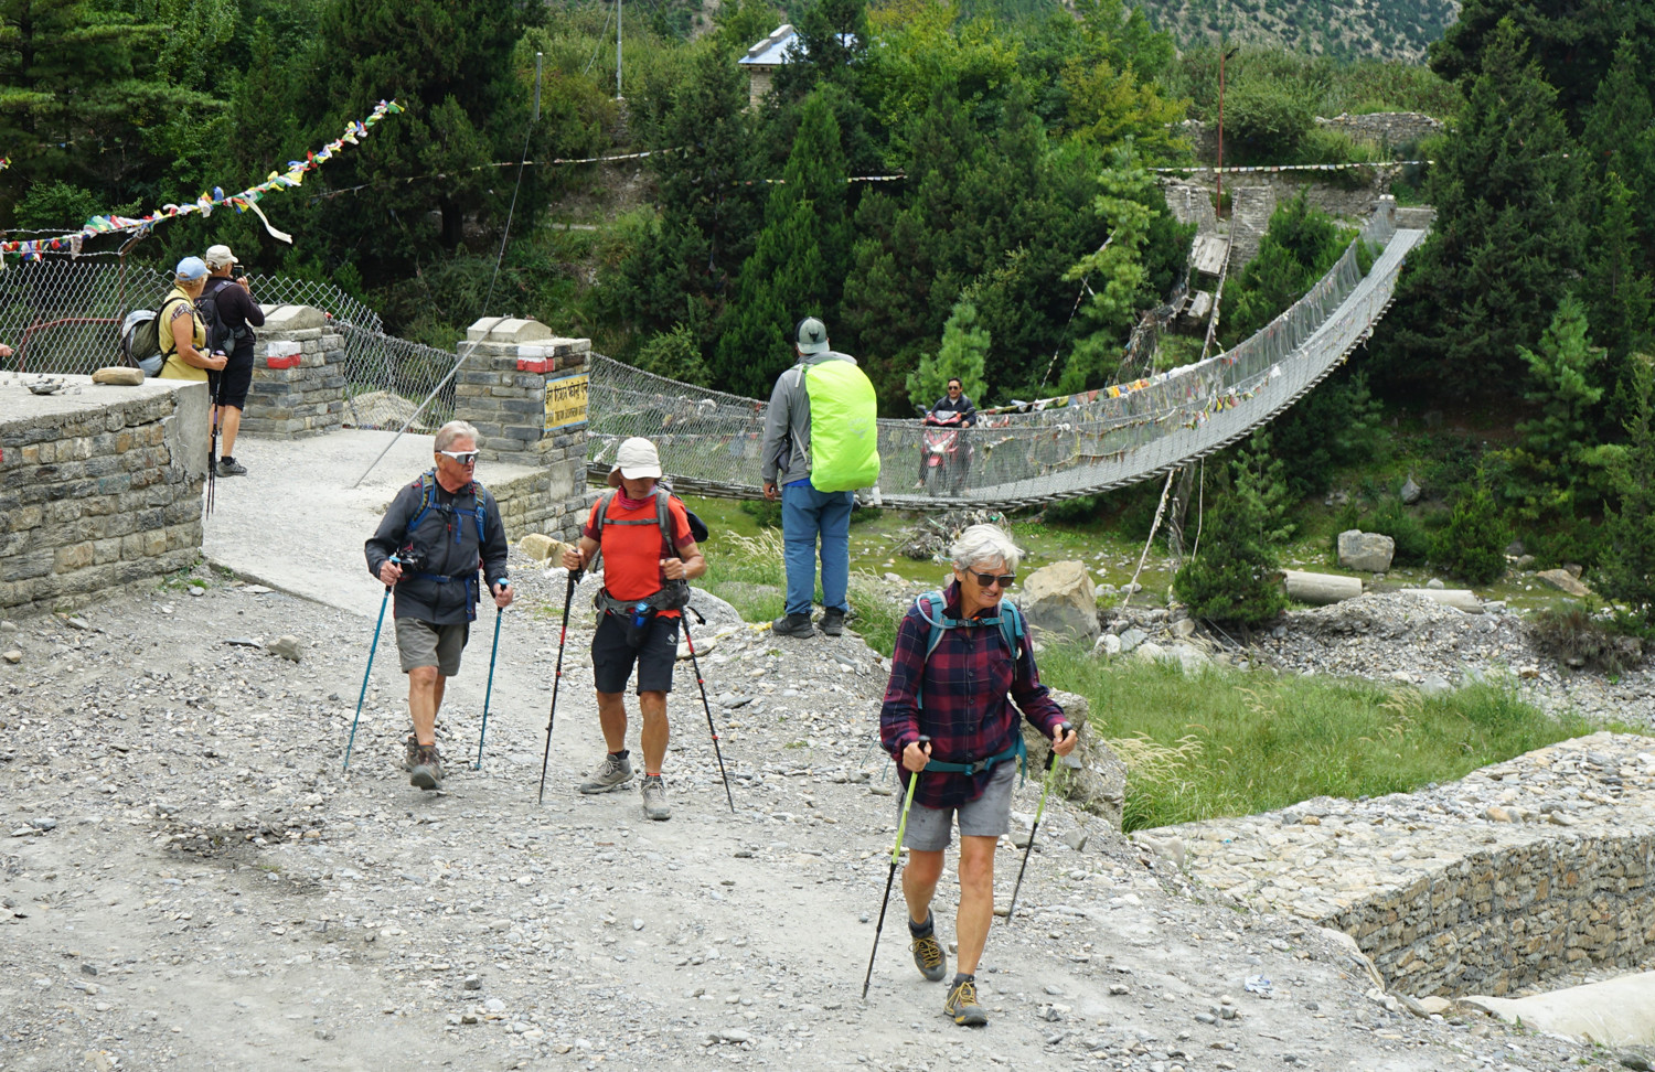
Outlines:
<svg viewBox="0 0 1655 1072"><path fill-rule="evenodd" d="M207 385L0 384L0 612L78 605L195 562Z"/></svg>

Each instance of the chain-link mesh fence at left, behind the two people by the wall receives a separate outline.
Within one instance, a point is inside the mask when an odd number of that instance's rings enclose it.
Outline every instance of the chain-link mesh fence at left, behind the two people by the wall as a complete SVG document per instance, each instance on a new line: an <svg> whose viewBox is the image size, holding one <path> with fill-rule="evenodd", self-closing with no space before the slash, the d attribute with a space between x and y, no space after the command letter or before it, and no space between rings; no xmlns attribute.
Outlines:
<svg viewBox="0 0 1655 1072"><path fill-rule="evenodd" d="M170 286L164 270L103 255L48 255L0 271L0 342L15 349L0 367L89 376L121 364L121 321L132 309L157 308ZM377 313L331 283L248 275L248 286L266 311L305 304L328 314L344 339L346 422L353 427L401 428L458 361L452 351L387 336ZM449 385L414 428L429 432L452 417Z"/></svg>

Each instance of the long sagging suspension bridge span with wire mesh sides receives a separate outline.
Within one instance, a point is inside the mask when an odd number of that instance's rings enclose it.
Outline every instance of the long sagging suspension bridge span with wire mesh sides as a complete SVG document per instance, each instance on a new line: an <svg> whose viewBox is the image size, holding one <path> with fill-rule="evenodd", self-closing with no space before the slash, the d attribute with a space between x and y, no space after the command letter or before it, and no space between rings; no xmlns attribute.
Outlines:
<svg viewBox="0 0 1655 1072"><path fill-rule="evenodd" d="M880 420L880 500L920 506L1019 506L1145 480L1236 442L1326 377L1390 304L1403 255L1420 232L1380 210L1293 308L1231 351L1149 379L1069 395L1038 410L986 417L965 432L967 471L919 476L922 427ZM1364 276L1357 243L1384 248ZM619 442L654 440L679 490L751 498L758 491L766 402L680 384L594 357L588 424L591 471L607 471ZM862 496L867 501L869 496Z"/></svg>

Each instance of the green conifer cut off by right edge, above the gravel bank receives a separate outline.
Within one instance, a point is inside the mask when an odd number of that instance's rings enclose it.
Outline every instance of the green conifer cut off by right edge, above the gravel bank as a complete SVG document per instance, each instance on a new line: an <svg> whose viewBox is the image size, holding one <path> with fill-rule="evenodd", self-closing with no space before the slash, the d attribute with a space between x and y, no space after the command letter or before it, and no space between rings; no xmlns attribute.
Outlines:
<svg viewBox="0 0 1655 1072"><path fill-rule="evenodd" d="M1655 627L1655 359L1635 354L1629 362L1627 453L1617 467L1619 506L1604 518L1609 544L1597 572L1597 591L1627 605L1643 629Z"/></svg>

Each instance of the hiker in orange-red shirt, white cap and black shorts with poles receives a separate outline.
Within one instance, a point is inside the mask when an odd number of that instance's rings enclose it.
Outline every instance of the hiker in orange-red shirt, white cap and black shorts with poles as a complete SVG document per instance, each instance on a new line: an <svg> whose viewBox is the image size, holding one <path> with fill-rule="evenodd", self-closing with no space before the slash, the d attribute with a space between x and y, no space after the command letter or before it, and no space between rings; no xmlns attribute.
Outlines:
<svg viewBox="0 0 1655 1072"><path fill-rule="evenodd" d="M592 634L592 683L597 721L609 754L581 782L581 792L609 792L632 778L626 748L622 690L637 665L637 706L644 716L644 814L670 819L660 764L667 758L667 693L679 655L679 609L688 602L688 581L707 572L688 514L675 496L657 488L660 457L647 438L629 438L616 453L609 486L592 505L581 541L563 556L566 569L586 569L602 551L604 587ZM665 511L657 496L664 498ZM662 524L665 516L665 524Z"/></svg>

